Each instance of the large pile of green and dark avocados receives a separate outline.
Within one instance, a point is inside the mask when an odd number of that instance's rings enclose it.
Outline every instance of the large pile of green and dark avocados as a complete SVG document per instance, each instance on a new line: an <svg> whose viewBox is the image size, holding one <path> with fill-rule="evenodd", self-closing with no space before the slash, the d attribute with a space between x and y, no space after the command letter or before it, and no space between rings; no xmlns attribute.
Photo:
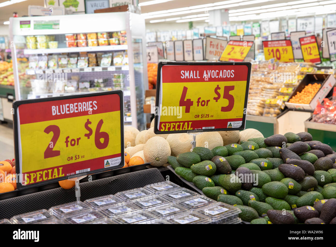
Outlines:
<svg viewBox="0 0 336 247"><path fill-rule="evenodd" d="M196 147L168 162L251 224L336 224L336 152L307 132Z"/></svg>

